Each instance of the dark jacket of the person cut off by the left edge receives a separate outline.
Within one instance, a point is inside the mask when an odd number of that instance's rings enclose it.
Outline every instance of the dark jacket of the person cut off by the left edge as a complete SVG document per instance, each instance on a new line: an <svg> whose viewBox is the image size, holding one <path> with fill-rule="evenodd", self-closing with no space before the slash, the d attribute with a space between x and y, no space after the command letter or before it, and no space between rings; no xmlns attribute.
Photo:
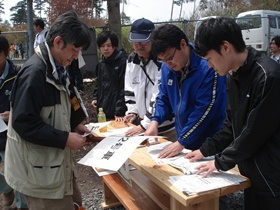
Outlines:
<svg viewBox="0 0 280 210"><path fill-rule="evenodd" d="M9 59L7 59L7 61L9 63L9 72L3 80L0 79L0 113L10 111L9 97L11 95L13 83L17 75L17 70L13 62ZM4 131L0 133L0 151L5 150L6 141L7 131Z"/></svg>

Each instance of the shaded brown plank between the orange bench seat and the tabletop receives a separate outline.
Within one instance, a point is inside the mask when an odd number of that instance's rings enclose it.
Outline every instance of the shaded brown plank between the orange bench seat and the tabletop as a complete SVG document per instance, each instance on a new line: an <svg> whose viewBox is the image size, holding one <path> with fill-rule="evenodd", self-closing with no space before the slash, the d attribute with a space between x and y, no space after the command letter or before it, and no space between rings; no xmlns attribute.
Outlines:
<svg viewBox="0 0 280 210"><path fill-rule="evenodd" d="M170 195L138 170L130 172L131 179L163 210L170 209Z"/></svg>

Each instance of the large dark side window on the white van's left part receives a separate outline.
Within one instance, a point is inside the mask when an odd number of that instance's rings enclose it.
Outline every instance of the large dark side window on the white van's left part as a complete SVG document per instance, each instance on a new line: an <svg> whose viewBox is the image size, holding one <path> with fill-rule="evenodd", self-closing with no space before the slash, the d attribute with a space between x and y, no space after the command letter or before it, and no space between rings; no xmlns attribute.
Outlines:
<svg viewBox="0 0 280 210"><path fill-rule="evenodd" d="M237 24L241 27L241 30L261 28L262 21L260 15L248 15L236 19Z"/></svg>

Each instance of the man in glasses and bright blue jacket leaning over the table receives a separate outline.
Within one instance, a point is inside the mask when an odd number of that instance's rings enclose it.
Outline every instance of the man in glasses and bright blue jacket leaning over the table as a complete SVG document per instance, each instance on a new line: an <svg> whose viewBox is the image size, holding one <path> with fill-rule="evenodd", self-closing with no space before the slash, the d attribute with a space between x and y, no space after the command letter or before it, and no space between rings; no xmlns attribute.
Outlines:
<svg viewBox="0 0 280 210"><path fill-rule="evenodd" d="M178 141L159 155L172 157L184 148L199 148L220 129L225 119L226 78L208 67L175 25L165 24L153 32L152 51L163 62L162 77L145 135L157 135L158 125L173 112Z"/></svg>

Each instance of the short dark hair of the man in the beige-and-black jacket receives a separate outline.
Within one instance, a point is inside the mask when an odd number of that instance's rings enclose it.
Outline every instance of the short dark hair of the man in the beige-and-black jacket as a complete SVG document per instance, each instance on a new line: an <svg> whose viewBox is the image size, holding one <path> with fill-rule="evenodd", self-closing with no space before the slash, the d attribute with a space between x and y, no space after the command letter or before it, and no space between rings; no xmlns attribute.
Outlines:
<svg viewBox="0 0 280 210"><path fill-rule="evenodd" d="M86 24L74 11L68 11L58 16L50 27L46 42L52 47L54 39L60 36L64 46L72 44L86 50L91 42L90 32Z"/></svg>

